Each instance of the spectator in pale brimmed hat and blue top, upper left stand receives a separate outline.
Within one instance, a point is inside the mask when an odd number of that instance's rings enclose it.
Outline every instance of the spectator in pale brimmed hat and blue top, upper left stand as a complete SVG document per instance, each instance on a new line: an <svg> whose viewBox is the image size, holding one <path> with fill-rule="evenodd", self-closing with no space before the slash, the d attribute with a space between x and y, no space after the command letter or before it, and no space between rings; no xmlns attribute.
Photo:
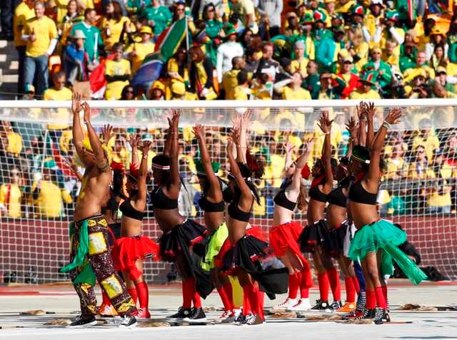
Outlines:
<svg viewBox="0 0 457 340"><path fill-rule="evenodd" d="M77 29L70 36L71 44L65 46L64 49L64 70L66 79L73 84L74 81L87 81L89 79L89 71L92 71L93 66L89 62L89 55L84 50L84 41L86 36L83 31ZM89 91L89 98L91 97Z"/></svg>

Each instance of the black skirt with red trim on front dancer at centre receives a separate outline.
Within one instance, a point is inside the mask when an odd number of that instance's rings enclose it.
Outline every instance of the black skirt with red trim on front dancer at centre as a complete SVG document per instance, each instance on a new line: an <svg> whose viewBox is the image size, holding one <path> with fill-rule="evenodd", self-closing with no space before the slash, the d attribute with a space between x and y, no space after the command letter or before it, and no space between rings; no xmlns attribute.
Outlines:
<svg viewBox="0 0 457 340"><path fill-rule="evenodd" d="M260 259L269 254L268 243L252 235L244 235L224 254L222 271L236 274L237 268L243 268L251 274L262 272Z"/></svg>

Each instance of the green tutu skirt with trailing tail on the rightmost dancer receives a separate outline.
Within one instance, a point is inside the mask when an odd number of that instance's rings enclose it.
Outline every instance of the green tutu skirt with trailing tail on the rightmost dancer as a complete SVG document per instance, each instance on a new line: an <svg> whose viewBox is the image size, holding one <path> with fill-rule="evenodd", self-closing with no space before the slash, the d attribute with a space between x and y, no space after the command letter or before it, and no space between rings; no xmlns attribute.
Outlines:
<svg viewBox="0 0 457 340"><path fill-rule="evenodd" d="M417 265L398 249L398 245L406 242L406 233L391 222L379 220L371 225L364 225L356 231L351 241L348 257L360 262L369 252L382 249L382 274L393 274L392 260L398 264L413 284L419 284L427 276Z"/></svg>

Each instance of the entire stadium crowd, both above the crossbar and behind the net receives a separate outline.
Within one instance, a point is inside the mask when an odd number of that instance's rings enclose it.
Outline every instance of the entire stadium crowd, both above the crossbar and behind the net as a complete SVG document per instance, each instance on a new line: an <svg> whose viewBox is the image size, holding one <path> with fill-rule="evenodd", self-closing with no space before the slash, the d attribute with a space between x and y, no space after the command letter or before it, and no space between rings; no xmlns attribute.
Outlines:
<svg viewBox="0 0 457 340"><path fill-rule="evenodd" d="M2 2L1 33L14 38L18 93L24 100L69 100L71 89L84 93L86 99L121 100L369 100L453 98L457 93L453 1L446 2L448 7L440 1L416 1L418 6L411 11L403 0L309 0L293 6L291 1L283 4L278 0L17 2ZM14 7L12 21L5 19L7 6ZM186 32L173 46L171 58L164 61L159 79L133 86L130 81L141 72L146 56L163 43L166 30L185 17ZM95 83L99 91L94 91ZM454 117L452 112L436 111L434 117L421 115L415 124L391 133L385 149L386 190L378 197L383 215L455 212L457 135L450 128L436 129L430 119L444 118L451 126ZM114 118L136 115L141 120L139 112L116 111ZM39 112L27 114L34 118ZM203 121L204 112L194 114ZM346 150L348 115L344 111L334 115L332 145L339 158ZM269 217L273 212L272 198L281 185L291 148L288 143L298 150L304 138L312 135L310 162L321 154L323 135L316 127L302 127L302 116L290 110L254 113L253 152L261 154L266 163L266 175L257 183L262 192L262 204L254 210L257 217ZM288 125L288 131L263 128L261 122L268 117L278 125ZM49 110L46 118L68 120L69 113ZM293 126L311 132L291 132ZM179 202L181 212L196 216L201 213L196 203L194 160L198 155L190 131L182 131L180 164L187 190L181 190ZM133 128L117 129L108 145L111 158L126 169L129 135L134 132ZM156 152L160 150L163 130L136 132L144 140L154 140ZM226 160L227 133L226 128L211 132L214 160ZM78 170L71 143L67 124L2 122L0 163L9 167L1 167L0 215L71 215L79 190L71 172ZM406 185L396 185L398 180Z"/></svg>

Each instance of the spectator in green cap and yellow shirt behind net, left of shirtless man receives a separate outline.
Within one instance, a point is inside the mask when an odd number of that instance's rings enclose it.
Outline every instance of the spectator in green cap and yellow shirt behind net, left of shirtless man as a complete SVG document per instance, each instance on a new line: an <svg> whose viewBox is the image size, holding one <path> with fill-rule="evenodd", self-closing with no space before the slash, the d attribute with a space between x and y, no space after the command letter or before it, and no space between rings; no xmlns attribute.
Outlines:
<svg viewBox="0 0 457 340"><path fill-rule="evenodd" d="M71 196L51 180L51 170L56 168L54 160L46 160L43 168L43 178L32 185L32 197L35 202L38 217L61 217L64 212L64 202L71 203Z"/></svg>

